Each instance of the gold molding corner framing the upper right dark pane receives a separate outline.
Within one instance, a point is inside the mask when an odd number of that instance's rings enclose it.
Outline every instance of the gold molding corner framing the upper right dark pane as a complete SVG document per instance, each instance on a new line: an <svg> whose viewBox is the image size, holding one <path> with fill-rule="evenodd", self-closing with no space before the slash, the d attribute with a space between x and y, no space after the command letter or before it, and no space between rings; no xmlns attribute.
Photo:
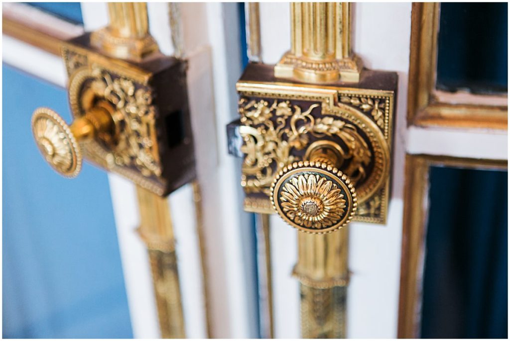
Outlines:
<svg viewBox="0 0 510 341"><path fill-rule="evenodd" d="M439 9L440 3L413 3L407 125L507 130L507 95L436 90Z"/></svg>

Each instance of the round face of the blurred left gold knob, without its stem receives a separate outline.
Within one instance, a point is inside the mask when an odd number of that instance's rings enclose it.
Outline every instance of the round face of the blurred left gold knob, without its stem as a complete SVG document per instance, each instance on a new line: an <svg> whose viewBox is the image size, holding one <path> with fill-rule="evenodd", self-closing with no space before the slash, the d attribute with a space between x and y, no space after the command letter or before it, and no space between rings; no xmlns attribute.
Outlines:
<svg viewBox="0 0 510 341"><path fill-rule="evenodd" d="M61 175L74 178L82 168L82 153L71 128L55 111L38 108L32 116L32 132L46 161Z"/></svg>

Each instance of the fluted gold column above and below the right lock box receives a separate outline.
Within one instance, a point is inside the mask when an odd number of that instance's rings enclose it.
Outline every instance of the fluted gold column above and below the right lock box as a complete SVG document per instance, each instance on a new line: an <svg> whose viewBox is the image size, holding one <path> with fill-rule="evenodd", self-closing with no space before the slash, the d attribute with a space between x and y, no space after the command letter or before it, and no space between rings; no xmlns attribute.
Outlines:
<svg viewBox="0 0 510 341"><path fill-rule="evenodd" d="M350 3L292 3L291 50L276 77L304 82L358 82L363 64L350 43ZM298 233L301 336L345 338L349 282L348 226L333 233Z"/></svg>

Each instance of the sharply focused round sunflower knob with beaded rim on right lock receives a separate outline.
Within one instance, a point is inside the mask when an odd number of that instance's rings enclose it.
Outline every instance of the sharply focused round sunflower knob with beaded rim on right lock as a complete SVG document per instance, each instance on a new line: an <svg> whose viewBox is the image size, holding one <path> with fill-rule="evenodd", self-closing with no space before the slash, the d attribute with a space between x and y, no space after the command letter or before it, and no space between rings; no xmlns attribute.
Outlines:
<svg viewBox="0 0 510 341"><path fill-rule="evenodd" d="M333 232L352 219L358 206L349 178L320 162L294 162L271 185L274 210L294 228L312 234Z"/></svg>

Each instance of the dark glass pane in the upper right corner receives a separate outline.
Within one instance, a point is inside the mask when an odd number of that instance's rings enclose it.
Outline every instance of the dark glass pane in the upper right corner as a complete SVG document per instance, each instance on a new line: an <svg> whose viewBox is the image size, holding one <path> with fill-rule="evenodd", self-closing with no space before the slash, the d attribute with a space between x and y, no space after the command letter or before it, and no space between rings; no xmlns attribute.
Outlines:
<svg viewBox="0 0 510 341"><path fill-rule="evenodd" d="M437 88L505 93L508 4L441 3Z"/></svg>

